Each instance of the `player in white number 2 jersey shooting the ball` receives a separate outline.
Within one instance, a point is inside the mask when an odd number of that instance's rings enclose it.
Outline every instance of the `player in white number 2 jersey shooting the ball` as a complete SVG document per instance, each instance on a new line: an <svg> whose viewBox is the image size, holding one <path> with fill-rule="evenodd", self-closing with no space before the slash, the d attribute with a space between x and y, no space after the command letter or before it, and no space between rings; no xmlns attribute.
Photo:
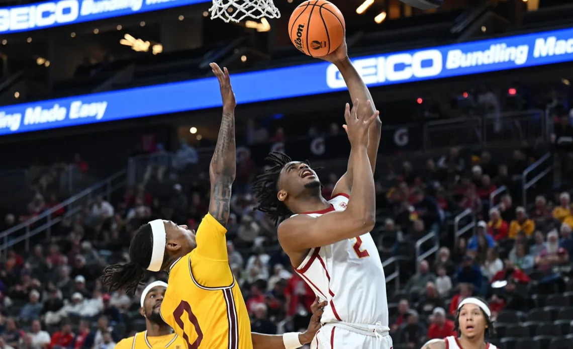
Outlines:
<svg viewBox="0 0 573 349"><path fill-rule="evenodd" d="M291 264L329 305L311 348L390 349L386 281L370 230L375 222L372 172L380 142L380 119L370 92L343 44L326 58L340 70L354 100L344 129L351 144L348 170L330 201L308 163L273 152L272 167L253 182L257 209L280 224L278 240ZM360 105L359 105L360 104Z"/></svg>

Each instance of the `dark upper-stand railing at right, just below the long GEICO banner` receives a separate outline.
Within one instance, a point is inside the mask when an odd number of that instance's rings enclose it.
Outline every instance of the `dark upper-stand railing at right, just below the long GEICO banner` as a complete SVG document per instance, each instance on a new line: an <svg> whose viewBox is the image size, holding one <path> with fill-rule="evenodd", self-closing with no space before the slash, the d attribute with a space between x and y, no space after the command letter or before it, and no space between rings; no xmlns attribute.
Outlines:
<svg viewBox="0 0 573 349"><path fill-rule="evenodd" d="M537 109L430 121L424 125L424 148L485 146L492 143L548 139L551 120Z"/></svg>

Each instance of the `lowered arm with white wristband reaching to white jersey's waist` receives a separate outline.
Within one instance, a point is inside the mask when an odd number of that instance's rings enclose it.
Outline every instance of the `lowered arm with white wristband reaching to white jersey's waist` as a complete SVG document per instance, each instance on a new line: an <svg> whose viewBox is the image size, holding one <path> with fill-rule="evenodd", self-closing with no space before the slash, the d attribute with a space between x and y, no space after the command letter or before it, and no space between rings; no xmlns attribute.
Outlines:
<svg viewBox="0 0 573 349"><path fill-rule="evenodd" d="M319 297L316 297L311 305L312 317L308 324L307 331L304 333L288 333L284 335L262 335L252 333L253 349L295 349L312 342L316 332L322 326L320 317L324 312L327 301L319 303ZM298 341L298 342L295 342Z"/></svg>

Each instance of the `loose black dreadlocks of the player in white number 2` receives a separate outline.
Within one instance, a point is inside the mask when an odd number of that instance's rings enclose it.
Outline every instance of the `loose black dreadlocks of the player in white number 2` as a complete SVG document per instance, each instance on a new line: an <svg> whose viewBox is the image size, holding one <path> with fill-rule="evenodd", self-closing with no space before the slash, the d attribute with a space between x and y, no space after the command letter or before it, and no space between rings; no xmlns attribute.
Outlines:
<svg viewBox="0 0 573 349"><path fill-rule="evenodd" d="M270 167L255 177L252 184L253 193L258 199L258 205L254 209L268 214L274 224L278 225L280 221L292 215L284 202L277 198L278 177L282 167L292 159L282 152L272 151L265 160L270 162Z"/></svg>

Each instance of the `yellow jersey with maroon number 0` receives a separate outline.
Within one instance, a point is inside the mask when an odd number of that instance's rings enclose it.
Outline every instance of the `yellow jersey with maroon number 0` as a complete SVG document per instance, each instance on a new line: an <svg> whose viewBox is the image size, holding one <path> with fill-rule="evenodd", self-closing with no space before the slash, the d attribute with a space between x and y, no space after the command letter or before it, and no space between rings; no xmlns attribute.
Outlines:
<svg viewBox="0 0 573 349"><path fill-rule="evenodd" d="M227 230L209 213L197 247L171 265L160 314L186 349L252 349L250 319L227 256Z"/></svg>

